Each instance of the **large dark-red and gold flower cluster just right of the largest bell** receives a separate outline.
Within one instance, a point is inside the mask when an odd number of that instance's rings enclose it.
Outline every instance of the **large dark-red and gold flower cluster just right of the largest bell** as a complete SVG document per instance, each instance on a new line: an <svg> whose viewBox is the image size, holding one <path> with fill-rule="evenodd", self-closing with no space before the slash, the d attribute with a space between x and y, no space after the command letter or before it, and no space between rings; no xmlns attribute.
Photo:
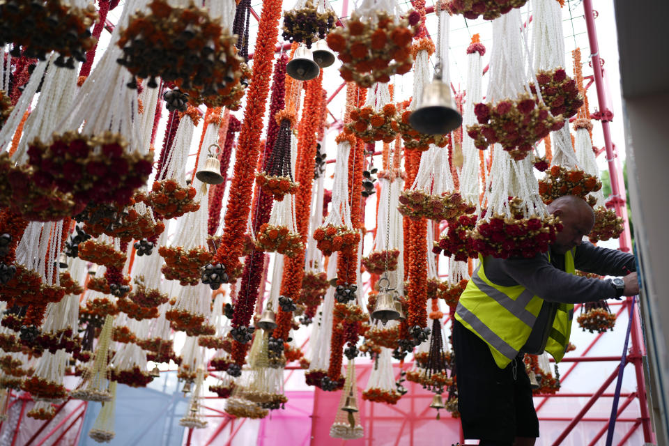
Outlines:
<svg viewBox="0 0 669 446"><path fill-rule="evenodd" d="M479 123L468 125L467 134L477 148L485 150L499 143L518 161L532 152L534 144L564 126L562 115L553 116L536 95L521 93L516 100L479 102L474 106Z"/></svg>

